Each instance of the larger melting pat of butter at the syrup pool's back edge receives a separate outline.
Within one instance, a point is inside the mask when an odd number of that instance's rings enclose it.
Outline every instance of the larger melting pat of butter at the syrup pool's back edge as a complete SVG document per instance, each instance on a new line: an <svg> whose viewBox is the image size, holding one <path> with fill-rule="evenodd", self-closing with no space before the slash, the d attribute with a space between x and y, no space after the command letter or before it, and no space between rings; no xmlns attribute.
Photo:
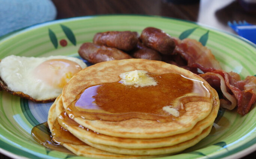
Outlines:
<svg viewBox="0 0 256 159"><path fill-rule="evenodd" d="M133 85L135 87L145 87L157 85L156 80L150 77L147 71L135 70L120 74L121 82L124 85Z"/></svg>

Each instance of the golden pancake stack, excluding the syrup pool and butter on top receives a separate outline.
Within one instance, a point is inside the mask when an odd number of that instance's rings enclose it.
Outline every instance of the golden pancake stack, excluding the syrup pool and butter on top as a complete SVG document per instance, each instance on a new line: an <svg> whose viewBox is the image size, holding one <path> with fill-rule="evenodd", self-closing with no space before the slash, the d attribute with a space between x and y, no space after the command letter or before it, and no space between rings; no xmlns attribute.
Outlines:
<svg viewBox="0 0 256 159"><path fill-rule="evenodd" d="M136 118L129 118L128 115L124 119L116 117L115 113L95 113L94 110L76 107L75 103L85 88L120 81L120 74L134 70L159 75L179 74L201 82L200 89L204 89L204 93L197 96L198 91L195 91L183 95L182 99L186 100L175 107L180 112L178 115L172 114L172 111L168 115L166 112L160 115L166 120L157 120L157 115L150 119L142 118L138 114L143 112L138 113ZM172 85L175 86L175 83ZM76 155L92 158L149 158L178 153L198 143L210 133L218 110L217 92L204 79L190 71L154 60L112 60L89 66L70 79L49 110L48 125L53 141ZM121 113L121 116L127 114L129 112Z"/></svg>

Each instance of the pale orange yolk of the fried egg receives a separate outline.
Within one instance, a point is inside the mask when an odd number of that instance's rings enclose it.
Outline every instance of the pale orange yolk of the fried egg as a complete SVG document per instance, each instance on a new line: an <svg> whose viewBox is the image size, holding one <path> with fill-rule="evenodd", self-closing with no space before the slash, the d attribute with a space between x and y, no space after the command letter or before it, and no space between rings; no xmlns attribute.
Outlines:
<svg viewBox="0 0 256 159"><path fill-rule="evenodd" d="M55 88L63 88L81 70L78 63L67 59L46 60L34 69L37 79Z"/></svg>

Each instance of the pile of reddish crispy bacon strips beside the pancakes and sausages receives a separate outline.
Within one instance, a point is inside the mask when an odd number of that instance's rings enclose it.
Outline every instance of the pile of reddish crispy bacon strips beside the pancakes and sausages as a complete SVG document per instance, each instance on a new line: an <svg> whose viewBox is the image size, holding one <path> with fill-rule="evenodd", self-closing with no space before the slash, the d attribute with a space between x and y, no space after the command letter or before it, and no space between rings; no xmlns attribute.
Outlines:
<svg viewBox="0 0 256 159"><path fill-rule="evenodd" d="M235 72L225 72L211 50L196 40L175 40L174 54L166 62L188 69L204 78L220 96L220 105L241 115L247 114L256 102L256 77L241 80ZM198 69L200 71L198 71Z"/></svg>

